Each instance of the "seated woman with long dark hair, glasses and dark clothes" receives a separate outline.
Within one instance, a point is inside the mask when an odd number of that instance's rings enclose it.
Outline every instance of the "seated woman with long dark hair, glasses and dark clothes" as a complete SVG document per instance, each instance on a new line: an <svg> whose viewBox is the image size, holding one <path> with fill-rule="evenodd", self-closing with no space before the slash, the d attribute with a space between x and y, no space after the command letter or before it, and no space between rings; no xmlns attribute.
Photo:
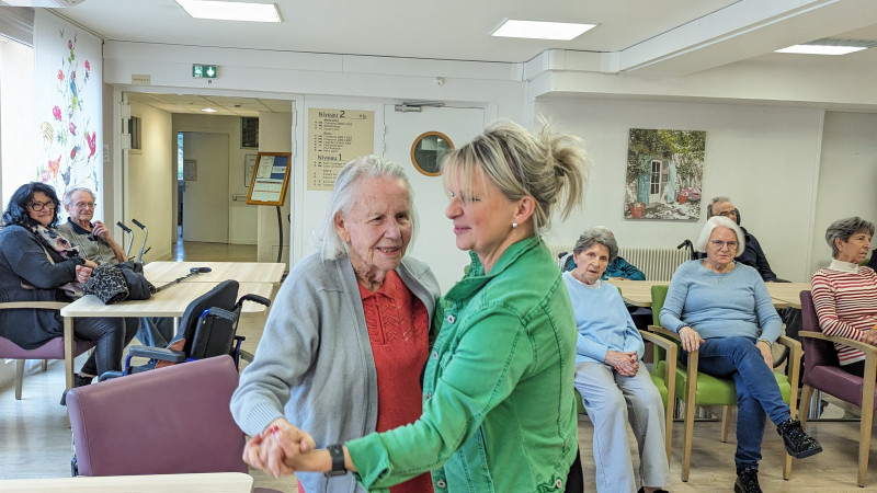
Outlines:
<svg viewBox="0 0 877 493"><path fill-rule="evenodd" d="M55 190L45 183L31 182L12 194L0 229L0 300L70 301L68 293L91 277L98 265L82 259L56 229L58 205ZM89 385L107 370L121 370L122 352L136 329L126 331L125 319L119 318L76 319L76 337L98 344L73 386ZM33 349L64 335L64 324L57 311L0 310L0 335Z"/></svg>

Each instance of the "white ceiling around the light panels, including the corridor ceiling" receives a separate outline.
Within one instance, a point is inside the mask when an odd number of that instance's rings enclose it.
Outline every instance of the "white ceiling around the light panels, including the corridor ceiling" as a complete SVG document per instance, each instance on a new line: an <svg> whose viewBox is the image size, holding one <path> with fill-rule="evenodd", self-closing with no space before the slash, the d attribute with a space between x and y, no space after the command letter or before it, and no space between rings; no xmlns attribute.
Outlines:
<svg viewBox="0 0 877 493"><path fill-rule="evenodd" d="M504 64L525 64L556 49L610 60L597 69L608 73L658 77L738 61L781 68L805 64L832 72L877 66L877 48L842 57L773 53L824 37L877 41L874 0L445 0L433 7L411 0L276 0L276 4L280 24L192 19L174 0L82 0L55 12L107 41L164 44L168 49L186 45ZM597 26L569 42L489 36L505 18ZM174 113L205 106L241 116L289 111L288 102L275 100L135 98Z"/></svg>

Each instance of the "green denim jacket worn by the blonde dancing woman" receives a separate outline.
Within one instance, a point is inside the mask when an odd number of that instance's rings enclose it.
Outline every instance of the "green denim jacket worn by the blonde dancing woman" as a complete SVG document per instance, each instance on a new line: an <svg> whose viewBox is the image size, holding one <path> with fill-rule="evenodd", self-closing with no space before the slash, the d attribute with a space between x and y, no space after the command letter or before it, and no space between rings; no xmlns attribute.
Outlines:
<svg viewBox="0 0 877 493"><path fill-rule="evenodd" d="M346 444L369 491L424 471L436 492L566 488L578 333L560 271L537 237L511 245L488 275L471 256L433 319L423 415Z"/></svg>

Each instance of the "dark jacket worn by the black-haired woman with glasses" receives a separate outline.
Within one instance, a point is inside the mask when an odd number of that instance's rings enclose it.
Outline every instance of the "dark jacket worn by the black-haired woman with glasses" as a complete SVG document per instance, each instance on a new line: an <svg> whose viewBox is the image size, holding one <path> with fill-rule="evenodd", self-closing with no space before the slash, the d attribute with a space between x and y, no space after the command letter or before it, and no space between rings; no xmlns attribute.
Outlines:
<svg viewBox="0 0 877 493"><path fill-rule="evenodd" d="M81 257L65 260L55 250L44 249L26 228L3 227L0 229L0 302L69 301L58 287L76 280L76 266L84 263ZM0 310L0 335L25 349L39 347L62 334L64 325L57 311Z"/></svg>

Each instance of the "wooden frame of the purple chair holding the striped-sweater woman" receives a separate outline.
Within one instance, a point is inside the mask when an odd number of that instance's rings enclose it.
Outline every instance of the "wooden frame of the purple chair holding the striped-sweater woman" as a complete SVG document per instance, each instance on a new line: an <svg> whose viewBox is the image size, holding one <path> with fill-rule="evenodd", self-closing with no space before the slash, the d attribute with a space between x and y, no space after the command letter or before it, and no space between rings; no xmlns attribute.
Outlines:
<svg viewBox="0 0 877 493"><path fill-rule="evenodd" d="M854 347L865 353L865 374L862 382L862 421L859 424L858 436L858 478L859 486L865 488L868 481L868 455L870 451L870 433L874 424L874 391L875 379L877 379L877 347L853 339L836 337L825 335L822 332L800 331L801 337L818 339L845 346ZM805 362L806 364L806 362ZM821 390L821 389L820 389ZM825 392L825 390L822 390ZM831 393L828 391L828 393ZM813 387L807 383L801 389L801 425L807 424L807 415L810 413L810 398L813 394Z"/></svg>

